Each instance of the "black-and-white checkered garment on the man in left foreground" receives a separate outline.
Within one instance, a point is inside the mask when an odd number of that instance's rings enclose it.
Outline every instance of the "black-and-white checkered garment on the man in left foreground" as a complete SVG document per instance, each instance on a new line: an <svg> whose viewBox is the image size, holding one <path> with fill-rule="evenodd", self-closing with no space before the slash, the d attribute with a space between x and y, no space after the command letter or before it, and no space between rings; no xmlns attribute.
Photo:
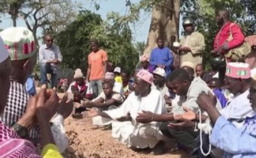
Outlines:
<svg viewBox="0 0 256 158"><path fill-rule="evenodd" d="M25 113L29 97L23 85L11 81L7 105L0 120L8 127L11 127ZM28 140L35 145L40 143L39 126L35 126L29 131Z"/></svg>

